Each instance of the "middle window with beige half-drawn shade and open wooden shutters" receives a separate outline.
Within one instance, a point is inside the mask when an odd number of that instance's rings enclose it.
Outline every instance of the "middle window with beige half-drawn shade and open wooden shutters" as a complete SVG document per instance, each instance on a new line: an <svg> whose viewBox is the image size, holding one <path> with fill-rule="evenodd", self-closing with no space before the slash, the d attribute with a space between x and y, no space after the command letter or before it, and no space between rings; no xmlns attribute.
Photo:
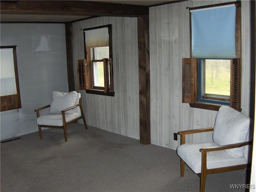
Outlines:
<svg viewBox="0 0 256 192"><path fill-rule="evenodd" d="M84 29L84 60L77 61L78 89L114 96L111 25Z"/></svg>

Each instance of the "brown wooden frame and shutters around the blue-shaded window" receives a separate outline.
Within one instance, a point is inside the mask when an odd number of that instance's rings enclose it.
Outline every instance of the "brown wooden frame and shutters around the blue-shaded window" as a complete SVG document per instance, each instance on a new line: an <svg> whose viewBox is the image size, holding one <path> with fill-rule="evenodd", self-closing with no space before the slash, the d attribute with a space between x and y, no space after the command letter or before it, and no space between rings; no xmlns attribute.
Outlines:
<svg viewBox="0 0 256 192"><path fill-rule="evenodd" d="M230 104L229 106L241 111L241 81L242 81L242 38L241 38L241 1L213 4L189 8L209 8L228 4L236 4L236 58L231 58L230 66ZM198 101L198 58L192 58L192 30L190 15L190 58L182 58L182 103L189 103L190 107L216 110L222 104Z"/></svg>

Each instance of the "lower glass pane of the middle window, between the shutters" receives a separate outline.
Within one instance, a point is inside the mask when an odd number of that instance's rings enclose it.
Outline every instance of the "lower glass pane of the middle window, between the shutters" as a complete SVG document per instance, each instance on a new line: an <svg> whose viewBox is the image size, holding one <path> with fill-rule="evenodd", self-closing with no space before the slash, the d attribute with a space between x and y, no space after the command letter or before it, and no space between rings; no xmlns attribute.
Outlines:
<svg viewBox="0 0 256 192"><path fill-rule="evenodd" d="M94 86L104 87L104 66L103 62L93 62Z"/></svg>

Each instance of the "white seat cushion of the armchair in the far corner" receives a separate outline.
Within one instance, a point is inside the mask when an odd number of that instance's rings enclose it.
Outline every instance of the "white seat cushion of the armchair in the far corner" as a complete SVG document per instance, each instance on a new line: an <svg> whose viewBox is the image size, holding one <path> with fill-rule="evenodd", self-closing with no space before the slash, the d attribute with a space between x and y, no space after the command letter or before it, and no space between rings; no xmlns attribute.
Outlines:
<svg viewBox="0 0 256 192"><path fill-rule="evenodd" d="M65 113L66 122L73 120L75 118L78 118L80 116L81 114L78 114L78 113L74 113L74 114ZM36 122L38 125L63 126L62 113L53 113L53 114L40 116L36 119Z"/></svg>

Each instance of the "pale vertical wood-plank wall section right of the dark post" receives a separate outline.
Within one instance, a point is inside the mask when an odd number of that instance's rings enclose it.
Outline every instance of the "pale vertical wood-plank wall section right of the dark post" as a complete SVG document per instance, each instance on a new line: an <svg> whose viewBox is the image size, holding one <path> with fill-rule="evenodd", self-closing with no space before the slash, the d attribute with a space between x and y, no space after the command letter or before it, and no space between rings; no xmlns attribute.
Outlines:
<svg viewBox="0 0 256 192"><path fill-rule="evenodd" d="M184 1L151 7L150 95L151 143L175 149L180 144L173 133L214 126L217 112L182 104L182 58L190 57L189 10L186 7L224 1ZM249 1L242 1L242 112L250 109ZM212 133L194 134L187 142L212 140Z"/></svg>

